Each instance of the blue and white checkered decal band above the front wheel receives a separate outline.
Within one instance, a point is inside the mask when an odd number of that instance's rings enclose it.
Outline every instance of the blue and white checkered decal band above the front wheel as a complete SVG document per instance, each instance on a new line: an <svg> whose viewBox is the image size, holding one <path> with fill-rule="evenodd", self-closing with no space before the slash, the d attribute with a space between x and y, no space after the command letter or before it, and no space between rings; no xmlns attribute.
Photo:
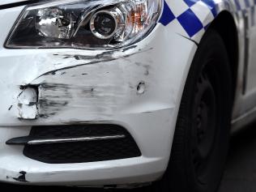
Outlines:
<svg viewBox="0 0 256 192"><path fill-rule="evenodd" d="M248 12L254 25L256 0L169 0L164 1L160 23L175 23L190 38L205 32L207 26L220 12L220 4L230 7L234 13ZM182 33L182 32L181 32Z"/></svg>

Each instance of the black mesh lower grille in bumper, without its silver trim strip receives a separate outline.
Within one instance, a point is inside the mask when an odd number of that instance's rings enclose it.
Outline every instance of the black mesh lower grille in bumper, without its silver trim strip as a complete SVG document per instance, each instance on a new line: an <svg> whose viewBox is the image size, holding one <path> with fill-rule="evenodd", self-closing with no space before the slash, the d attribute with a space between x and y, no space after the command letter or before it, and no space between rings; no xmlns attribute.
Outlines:
<svg viewBox="0 0 256 192"><path fill-rule="evenodd" d="M131 135L121 126L34 126L30 137L58 139L61 137L87 137L125 134L126 138L75 143L26 145L24 156L49 164L84 163L118 160L141 156Z"/></svg>

